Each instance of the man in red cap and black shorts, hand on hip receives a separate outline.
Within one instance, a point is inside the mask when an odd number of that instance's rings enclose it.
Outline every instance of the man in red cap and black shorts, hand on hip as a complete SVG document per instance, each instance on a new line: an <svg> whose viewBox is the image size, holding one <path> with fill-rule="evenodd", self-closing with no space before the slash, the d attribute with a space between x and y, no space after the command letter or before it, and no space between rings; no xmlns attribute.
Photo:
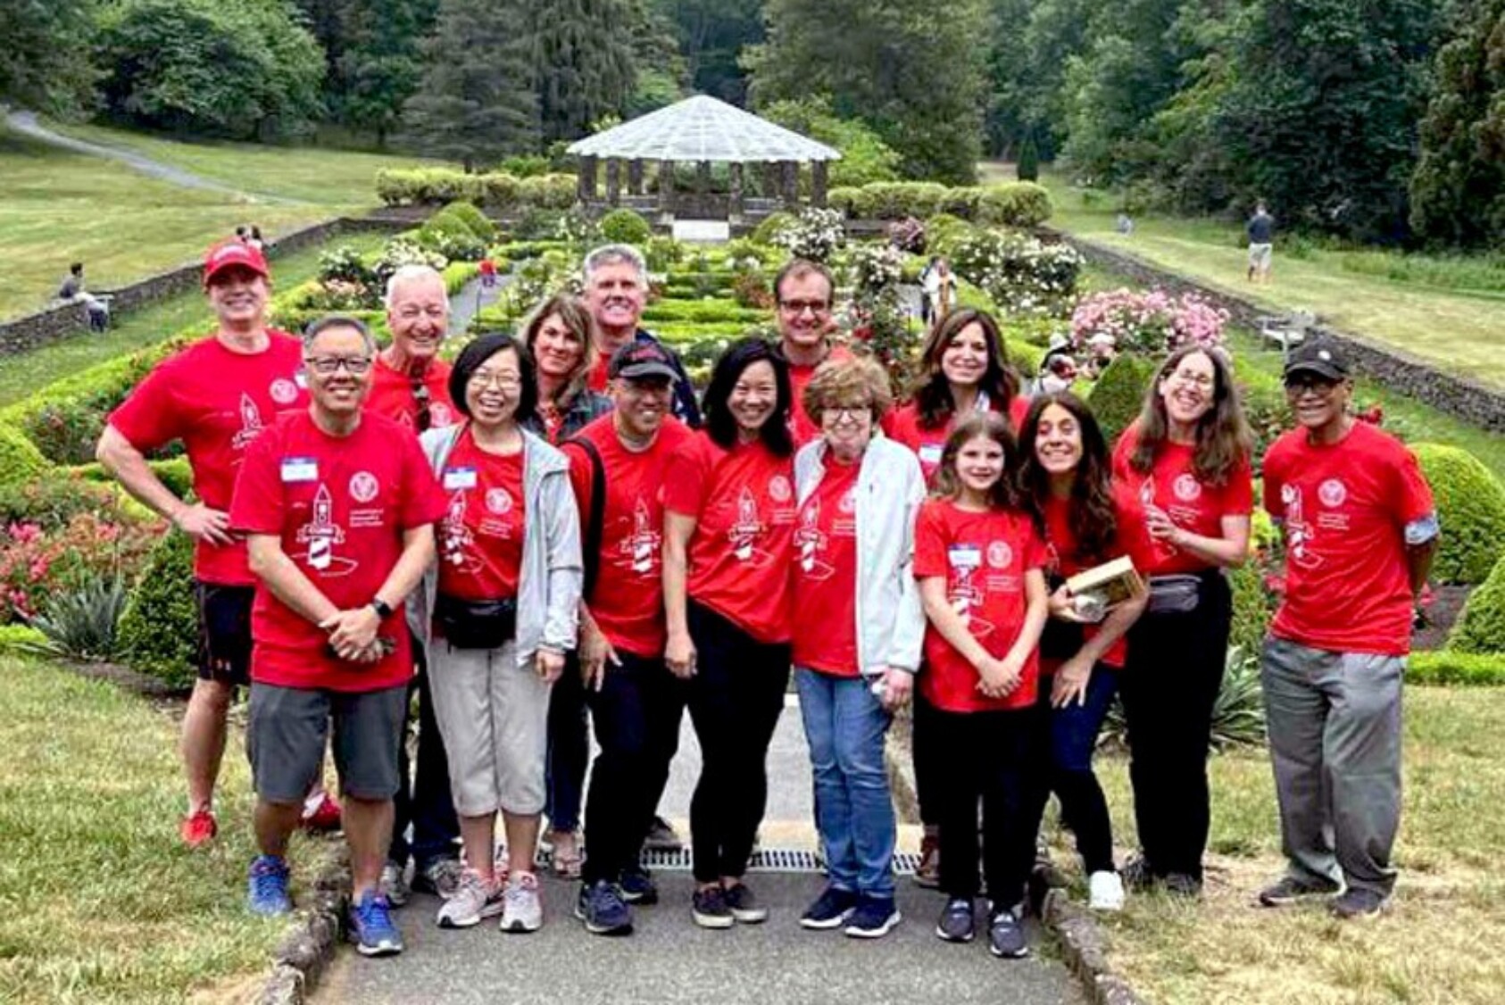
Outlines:
<svg viewBox="0 0 1505 1005"><path fill-rule="evenodd" d="M309 400L298 340L266 326L271 278L262 253L239 241L211 248L203 289L215 313L214 334L160 363L110 414L95 451L126 492L194 540L199 679L184 715L188 812L179 824L188 847L218 830L214 787L226 715L235 689L248 683L256 578L227 524L235 474L262 430ZM197 502L173 495L146 460L175 439L188 453Z"/></svg>

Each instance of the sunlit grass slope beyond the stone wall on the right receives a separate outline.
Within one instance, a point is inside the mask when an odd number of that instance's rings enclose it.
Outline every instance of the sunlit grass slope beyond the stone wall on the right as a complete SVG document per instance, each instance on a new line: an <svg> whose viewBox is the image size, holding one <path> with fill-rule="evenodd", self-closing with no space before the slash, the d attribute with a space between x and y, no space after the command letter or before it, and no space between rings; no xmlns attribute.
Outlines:
<svg viewBox="0 0 1505 1005"><path fill-rule="evenodd" d="M1013 170L987 164L983 176L1011 179ZM1136 217L1133 235L1124 236L1114 230L1118 203L1111 194L1084 193L1054 175L1041 175L1041 182L1055 200L1050 224L1075 236L1132 251L1272 311L1309 308L1336 328L1505 387L1505 266L1499 262L1449 265L1311 247L1297 259L1276 248L1275 281L1249 286L1242 226L1147 214ZM1470 284L1473 289L1458 289Z"/></svg>

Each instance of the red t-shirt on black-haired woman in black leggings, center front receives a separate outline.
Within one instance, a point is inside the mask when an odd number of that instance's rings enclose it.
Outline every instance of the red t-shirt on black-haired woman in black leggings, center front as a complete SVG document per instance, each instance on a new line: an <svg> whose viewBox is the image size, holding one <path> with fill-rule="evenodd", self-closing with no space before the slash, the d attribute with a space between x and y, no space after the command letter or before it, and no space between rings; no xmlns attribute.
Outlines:
<svg viewBox="0 0 1505 1005"><path fill-rule="evenodd" d="M664 509L695 518L689 596L760 642L787 642L793 457L763 441L722 450L697 433L679 448Z"/></svg>

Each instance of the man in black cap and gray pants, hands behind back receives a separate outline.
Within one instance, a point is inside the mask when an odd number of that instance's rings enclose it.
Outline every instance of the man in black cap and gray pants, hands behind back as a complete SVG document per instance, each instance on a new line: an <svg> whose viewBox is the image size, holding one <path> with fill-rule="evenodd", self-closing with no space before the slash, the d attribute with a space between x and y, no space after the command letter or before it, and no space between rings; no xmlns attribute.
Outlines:
<svg viewBox="0 0 1505 1005"><path fill-rule="evenodd" d="M1437 512L1415 454L1348 414L1353 381L1336 345L1293 351L1285 396L1297 429L1264 456L1285 594L1261 676L1287 871L1260 903L1338 894L1332 913L1361 918L1395 888L1401 679Z"/></svg>

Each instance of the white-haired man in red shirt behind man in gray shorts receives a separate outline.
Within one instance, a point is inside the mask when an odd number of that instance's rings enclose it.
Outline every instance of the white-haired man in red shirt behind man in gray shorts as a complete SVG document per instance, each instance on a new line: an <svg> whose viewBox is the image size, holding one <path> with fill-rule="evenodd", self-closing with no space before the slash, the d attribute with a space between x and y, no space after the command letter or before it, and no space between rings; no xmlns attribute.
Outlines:
<svg viewBox="0 0 1505 1005"><path fill-rule="evenodd" d="M439 360L439 343L450 326L444 277L427 265L405 265L393 272L387 281L387 326L391 345L376 357L366 411L397 421L414 438L429 429L453 426L459 411L450 400L450 364ZM450 794L444 737L429 700L423 648L415 645L412 653L418 660L411 683L417 697L418 749L412 758L415 764L409 764L408 745L400 749L402 785L382 870L382 889L393 907L408 903L409 861L411 889L442 898L459 889L464 871L456 850L461 824Z"/></svg>

